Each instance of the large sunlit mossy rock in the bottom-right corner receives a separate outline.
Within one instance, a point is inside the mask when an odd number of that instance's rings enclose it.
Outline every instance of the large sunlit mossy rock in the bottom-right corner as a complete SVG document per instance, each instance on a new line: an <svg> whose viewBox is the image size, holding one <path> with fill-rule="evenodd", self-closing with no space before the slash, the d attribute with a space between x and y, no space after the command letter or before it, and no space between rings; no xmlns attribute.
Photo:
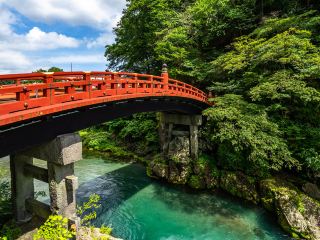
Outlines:
<svg viewBox="0 0 320 240"><path fill-rule="evenodd" d="M294 238L320 240L320 203L282 179L260 182L261 201Z"/></svg>

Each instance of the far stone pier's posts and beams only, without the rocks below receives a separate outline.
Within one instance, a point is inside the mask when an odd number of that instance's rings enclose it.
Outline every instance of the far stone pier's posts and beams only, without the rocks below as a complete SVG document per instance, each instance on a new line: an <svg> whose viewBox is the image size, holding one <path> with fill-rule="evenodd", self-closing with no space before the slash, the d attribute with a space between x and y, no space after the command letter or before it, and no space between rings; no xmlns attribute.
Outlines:
<svg viewBox="0 0 320 240"><path fill-rule="evenodd" d="M160 115L160 145L164 157L168 156L170 142L174 137L182 135L189 136L189 156L193 159L198 158L199 142L198 142L198 126L202 124L201 115L184 115L161 113ZM189 132L175 131L176 125L185 125L189 127ZM173 134L174 133L174 134ZM180 136L181 135L181 136Z"/></svg>

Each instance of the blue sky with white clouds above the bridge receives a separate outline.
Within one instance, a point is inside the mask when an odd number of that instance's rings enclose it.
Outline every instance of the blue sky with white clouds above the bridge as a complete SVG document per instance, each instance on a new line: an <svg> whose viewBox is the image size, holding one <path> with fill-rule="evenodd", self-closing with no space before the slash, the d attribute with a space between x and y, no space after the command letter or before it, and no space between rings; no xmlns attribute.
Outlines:
<svg viewBox="0 0 320 240"><path fill-rule="evenodd" d="M0 0L0 73L104 70L125 0Z"/></svg>

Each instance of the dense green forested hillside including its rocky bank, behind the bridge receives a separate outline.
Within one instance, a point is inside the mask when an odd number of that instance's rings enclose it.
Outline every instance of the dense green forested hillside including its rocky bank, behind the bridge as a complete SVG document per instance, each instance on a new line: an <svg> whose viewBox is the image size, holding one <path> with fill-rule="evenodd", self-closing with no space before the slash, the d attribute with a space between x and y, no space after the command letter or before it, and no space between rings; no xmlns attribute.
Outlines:
<svg viewBox="0 0 320 240"><path fill-rule="evenodd" d="M319 10L311 0L127 1L108 68L159 75L166 63L212 92L201 155L159 157L156 113L86 130L84 144L142 157L151 177L260 204L290 236L320 239Z"/></svg>

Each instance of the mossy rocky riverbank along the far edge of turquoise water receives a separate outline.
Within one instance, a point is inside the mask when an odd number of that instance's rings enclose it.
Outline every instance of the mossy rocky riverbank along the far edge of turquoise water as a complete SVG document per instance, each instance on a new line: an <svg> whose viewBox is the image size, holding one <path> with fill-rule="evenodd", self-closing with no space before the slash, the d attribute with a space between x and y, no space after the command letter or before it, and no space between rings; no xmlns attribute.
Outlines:
<svg viewBox="0 0 320 240"><path fill-rule="evenodd" d="M192 161L181 149L170 159L155 157L147 166L147 174L194 189L222 189L262 205L292 237L320 239L320 190L313 183L285 175L258 180L240 171L219 170L208 157Z"/></svg>

